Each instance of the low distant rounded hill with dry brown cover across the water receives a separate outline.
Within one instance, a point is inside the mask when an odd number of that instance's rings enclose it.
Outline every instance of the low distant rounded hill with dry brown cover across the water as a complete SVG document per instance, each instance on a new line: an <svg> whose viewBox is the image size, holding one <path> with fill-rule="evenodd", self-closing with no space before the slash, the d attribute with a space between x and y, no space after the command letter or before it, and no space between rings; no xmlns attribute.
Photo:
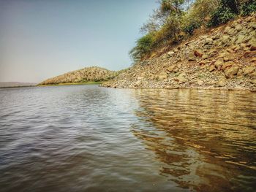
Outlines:
<svg viewBox="0 0 256 192"><path fill-rule="evenodd" d="M97 66L86 67L77 71L61 74L57 77L45 80L39 85L51 85L59 83L71 83L71 82L89 82L89 81L103 81L110 80L116 77L118 72L109 71Z"/></svg>

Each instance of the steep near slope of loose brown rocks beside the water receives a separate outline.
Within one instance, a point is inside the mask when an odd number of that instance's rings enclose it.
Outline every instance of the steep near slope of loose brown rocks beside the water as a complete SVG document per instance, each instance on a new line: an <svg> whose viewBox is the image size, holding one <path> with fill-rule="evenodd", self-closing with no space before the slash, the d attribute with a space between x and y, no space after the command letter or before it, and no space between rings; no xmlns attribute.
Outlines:
<svg viewBox="0 0 256 192"><path fill-rule="evenodd" d="M256 87L256 15L240 18L140 62L105 82L111 88Z"/></svg>

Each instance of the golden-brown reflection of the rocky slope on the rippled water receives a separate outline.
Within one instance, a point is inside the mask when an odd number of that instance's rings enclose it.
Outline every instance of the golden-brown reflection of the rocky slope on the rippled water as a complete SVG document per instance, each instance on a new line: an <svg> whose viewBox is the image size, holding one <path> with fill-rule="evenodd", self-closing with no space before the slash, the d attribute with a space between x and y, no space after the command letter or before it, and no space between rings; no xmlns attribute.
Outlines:
<svg viewBox="0 0 256 192"><path fill-rule="evenodd" d="M143 90L136 99L144 123L132 132L168 180L196 191L254 191L255 93Z"/></svg>

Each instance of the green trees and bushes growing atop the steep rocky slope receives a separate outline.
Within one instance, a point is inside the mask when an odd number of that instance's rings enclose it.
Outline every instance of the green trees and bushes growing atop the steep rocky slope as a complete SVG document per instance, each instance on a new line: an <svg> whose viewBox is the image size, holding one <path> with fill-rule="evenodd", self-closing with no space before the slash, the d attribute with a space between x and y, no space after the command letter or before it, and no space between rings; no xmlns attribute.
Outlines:
<svg viewBox="0 0 256 192"><path fill-rule="evenodd" d="M158 9L140 28L145 35L129 54L141 61L159 47L192 35L200 26L219 26L252 12L256 12L256 0L160 0Z"/></svg>

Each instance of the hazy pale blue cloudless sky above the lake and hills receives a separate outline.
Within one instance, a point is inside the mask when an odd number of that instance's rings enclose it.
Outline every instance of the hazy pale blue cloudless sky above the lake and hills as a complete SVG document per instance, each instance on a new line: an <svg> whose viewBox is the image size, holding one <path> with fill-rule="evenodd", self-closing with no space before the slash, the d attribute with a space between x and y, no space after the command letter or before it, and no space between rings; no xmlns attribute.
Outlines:
<svg viewBox="0 0 256 192"><path fill-rule="evenodd" d="M87 66L132 64L157 0L0 0L0 82L41 82Z"/></svg>

